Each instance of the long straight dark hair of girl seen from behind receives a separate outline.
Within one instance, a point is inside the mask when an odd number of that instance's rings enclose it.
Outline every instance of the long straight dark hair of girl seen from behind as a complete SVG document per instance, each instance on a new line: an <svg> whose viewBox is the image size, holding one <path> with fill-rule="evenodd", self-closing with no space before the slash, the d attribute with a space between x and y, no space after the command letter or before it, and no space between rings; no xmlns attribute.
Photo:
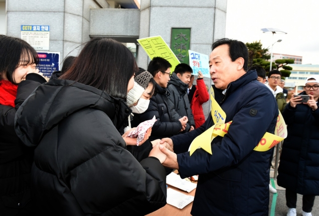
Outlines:
<svg viewBox="0 0 319 216"><path fill-rule="evenodd" d="M129 80L139 68L131 51L113 39L94 38L59 79L73 80L126 100Z"/></svg>

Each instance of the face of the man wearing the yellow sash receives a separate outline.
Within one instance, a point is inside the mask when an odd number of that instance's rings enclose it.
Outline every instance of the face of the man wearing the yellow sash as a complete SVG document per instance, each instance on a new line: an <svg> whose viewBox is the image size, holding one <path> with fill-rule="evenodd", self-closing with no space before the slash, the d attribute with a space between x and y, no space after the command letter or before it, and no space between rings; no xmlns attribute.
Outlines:
<svg viewBox="0 0 319 216"><path fill-rule="evenodd" d="M237 70L236 61L229 56L228 44L216 47L209 56L209 73L217 89L225 90L229 83L239 79L242 74Z"/></svg>

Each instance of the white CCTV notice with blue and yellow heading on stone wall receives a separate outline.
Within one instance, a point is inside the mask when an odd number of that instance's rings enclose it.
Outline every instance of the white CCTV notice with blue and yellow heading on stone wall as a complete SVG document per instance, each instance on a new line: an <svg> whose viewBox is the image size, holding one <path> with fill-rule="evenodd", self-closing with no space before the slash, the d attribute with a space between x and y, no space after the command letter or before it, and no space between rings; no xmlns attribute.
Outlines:
<svg viewBox="0 0 319 216"><path fill-rule="evenodd" d="M21 25L21 39L25 40L35 50L49 50L49 25Z"/></svg>

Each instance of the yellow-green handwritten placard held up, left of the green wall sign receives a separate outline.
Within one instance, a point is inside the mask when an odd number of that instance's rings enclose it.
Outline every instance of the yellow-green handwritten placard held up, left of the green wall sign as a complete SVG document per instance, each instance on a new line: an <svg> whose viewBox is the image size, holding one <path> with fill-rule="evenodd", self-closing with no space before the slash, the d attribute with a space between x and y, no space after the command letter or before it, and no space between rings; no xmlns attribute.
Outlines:
<svg viewBox="0 0 319 216"><path fill-rule="evenodd" d="M180 63L161 36L141 38L137 41L151 59L154 57L162 57L166 59L171 64L171 73L174 71L176 65Z"/></svg>

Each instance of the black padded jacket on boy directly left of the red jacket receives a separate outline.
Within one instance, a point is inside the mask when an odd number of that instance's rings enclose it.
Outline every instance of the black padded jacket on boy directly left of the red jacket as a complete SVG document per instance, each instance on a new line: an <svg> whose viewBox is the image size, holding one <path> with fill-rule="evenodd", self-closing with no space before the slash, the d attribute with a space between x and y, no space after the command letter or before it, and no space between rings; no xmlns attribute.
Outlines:
<svg viewBox="0 0 319 216"><path fill-rule="evenodd" d="M188 84L183 83L175 73L172 73L168 82L168 99L174 104L174 109L178 116L174 116L172 120L178 120L183 116L187 116L188 122L183 132L187 132L190 126L195 127L194 116L190 109L188 95L187 95Z"/></svg>

